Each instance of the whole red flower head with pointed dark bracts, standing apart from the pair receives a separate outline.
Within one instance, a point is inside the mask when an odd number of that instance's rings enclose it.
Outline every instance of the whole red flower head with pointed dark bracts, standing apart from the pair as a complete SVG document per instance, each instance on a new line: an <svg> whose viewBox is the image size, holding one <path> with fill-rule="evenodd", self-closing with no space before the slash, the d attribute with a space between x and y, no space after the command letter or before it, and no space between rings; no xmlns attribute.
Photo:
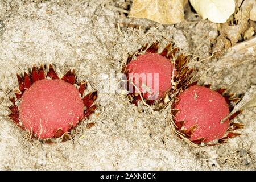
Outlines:
<svg viewBox="0 0 256 182"><path fill-rule="evenodd" d="M75 87L75 72L68 71L61 79L57 76L52 66L46 75L44 69L35 66L31 74L17 75L19 91L16 98L11 98L9 117L20 128L29 131L35 138L59 138L77 126L85 117L96 109L93 105L97 92L89 93L84 98L86 83Z"/></svg>

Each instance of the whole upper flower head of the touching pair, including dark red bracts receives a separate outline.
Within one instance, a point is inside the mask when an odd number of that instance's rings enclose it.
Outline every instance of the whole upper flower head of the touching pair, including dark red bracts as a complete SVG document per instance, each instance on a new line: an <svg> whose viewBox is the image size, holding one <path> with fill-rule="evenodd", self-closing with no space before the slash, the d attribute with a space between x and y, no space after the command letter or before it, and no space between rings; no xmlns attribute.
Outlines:
<svg viewBox="0 0 256 182"><path fill-rule="evenodd" d="M180 73L176 68L183 67L187 61L187 56L182 54L175 59L179 49L172 48L172 44L168 44L161 53L158 53L158 49L158 42L149 47L145 44L134 54L135 59L133 55L128 57L127 66L123 67L128 82L127 90L131 102L135 105L142 99L149 105L154 104L155 101L161 102L172 90L174 76ZM178 64L175 64L175 60Z"/></svg>

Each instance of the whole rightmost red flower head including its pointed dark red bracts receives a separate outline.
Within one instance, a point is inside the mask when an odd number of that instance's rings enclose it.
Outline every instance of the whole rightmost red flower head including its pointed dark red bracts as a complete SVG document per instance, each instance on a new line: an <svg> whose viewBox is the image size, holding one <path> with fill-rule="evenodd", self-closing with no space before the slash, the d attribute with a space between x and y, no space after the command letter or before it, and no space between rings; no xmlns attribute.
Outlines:
<svg viewBox="0 0 256 182"><path fill-rule="evenodd" d="M225 139L235 137L236 133L226 131L243 127L238 123L230 123L237 114L229 117L231 101L237 102L237 98L231 98L233 94L224 94L226 89L213 91L205 86L193 85L177 96L177 101L172 109L175 112L175 124L181 133L185 134L193 143L208 143L218 139L224 143Z"/></svg>

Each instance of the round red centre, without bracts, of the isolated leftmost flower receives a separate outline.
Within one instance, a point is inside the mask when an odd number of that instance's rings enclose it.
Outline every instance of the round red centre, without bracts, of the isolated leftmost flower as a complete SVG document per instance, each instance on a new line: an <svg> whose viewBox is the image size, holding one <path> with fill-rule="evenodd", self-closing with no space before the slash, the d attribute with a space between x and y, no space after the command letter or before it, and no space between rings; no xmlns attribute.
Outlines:
<svg viewBox="0 0 256 182"><path fill-rule="evenodd" d="M79 90L63 80L39 80L22 95L19 107L23 126L40 139L56 137L75 127L84 115Z"/></svg>

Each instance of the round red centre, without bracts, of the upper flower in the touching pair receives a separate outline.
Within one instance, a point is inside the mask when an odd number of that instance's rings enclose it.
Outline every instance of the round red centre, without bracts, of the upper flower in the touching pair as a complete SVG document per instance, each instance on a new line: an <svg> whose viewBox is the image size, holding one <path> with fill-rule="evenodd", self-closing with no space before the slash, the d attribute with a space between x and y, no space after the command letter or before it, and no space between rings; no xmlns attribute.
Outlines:
<svg viewBox="0 0 256 182"><path fill-rule="evenodd" d="M129 75L133 75L131 80L133 80L135 86L139 88L139 91L142 92L142 96L146 99L154 95L156 95L155 99L161 98L164 96L164 92L171 89L171 61L158 53L139 55L137 59L131 61L127 65L127 70L128 78ZM137 75L134 75L134 73L137 73ZM151 73L152 75L148 75L148 73ZM157 77L155 77L155 74L158 74L158 79L156 79ZM142 78L143 75L146 76L146 79ZM148 76L152 77L148 79ZM141 78L141 81L136 82L135 79L139 78ZM158 83L156 81L158 81ZM148 90L146 90L146 92L143 91L143 84L150 88L150 92L148 92Z"/></svg>

